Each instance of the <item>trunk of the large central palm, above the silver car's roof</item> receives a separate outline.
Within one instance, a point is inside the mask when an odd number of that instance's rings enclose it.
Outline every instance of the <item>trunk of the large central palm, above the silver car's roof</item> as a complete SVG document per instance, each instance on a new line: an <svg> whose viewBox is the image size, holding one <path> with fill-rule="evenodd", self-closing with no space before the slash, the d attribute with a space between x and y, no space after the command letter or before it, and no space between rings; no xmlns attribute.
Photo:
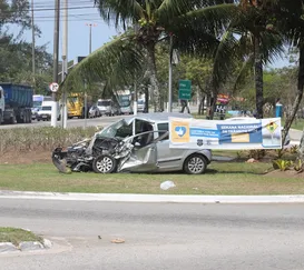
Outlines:
<svg viewBox="0 0 304 270"><path fill-rule="evenodd" d="M150 79L150 84L153 90L154 111L159 112L161 111L161 106L160 106L160 96L159 96L159 82L156 76L155 43L150 43L147 46L147 52L148 52L147 70L149 73L148 76Z"/></svg>

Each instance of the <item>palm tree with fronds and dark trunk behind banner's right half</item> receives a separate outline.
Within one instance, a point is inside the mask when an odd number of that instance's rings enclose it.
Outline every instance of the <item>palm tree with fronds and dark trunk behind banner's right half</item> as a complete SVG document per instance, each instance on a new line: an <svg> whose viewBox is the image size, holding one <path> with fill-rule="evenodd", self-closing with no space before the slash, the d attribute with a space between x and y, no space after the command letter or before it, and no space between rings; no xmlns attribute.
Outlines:
<svg viewBox="0 0 304 270"><path fill-rule="evenodd" d="M227 36L231 38L222 41L224 43L233 41L232 46L223 44L226 54L231 51L229 57L219 59L220 64L225 62L227 69L232 66L241 66L234 91L244 82L248 73L254 73L256 118L263 118L263 67L284 52L284 39L269 27L269 21L273 19L266 4L269 1L272 0L239 1L238 12L232 18L227 28Z"/></svg>

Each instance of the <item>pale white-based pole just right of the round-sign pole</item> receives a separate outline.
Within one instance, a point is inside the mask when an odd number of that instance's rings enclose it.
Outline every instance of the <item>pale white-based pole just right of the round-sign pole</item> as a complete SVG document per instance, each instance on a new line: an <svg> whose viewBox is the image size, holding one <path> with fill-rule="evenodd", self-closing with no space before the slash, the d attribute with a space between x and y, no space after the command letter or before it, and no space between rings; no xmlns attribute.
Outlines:
<svg viewBox="0 0 304 270"><path fill-rule="evenodd" d="M65 0L63 7L63 32L62 32L62 82L68 74L68 0ZM62 92L61 98L61 127L62 129L67 128L68 121L68 108L67 108L67 92Z"/></svg>

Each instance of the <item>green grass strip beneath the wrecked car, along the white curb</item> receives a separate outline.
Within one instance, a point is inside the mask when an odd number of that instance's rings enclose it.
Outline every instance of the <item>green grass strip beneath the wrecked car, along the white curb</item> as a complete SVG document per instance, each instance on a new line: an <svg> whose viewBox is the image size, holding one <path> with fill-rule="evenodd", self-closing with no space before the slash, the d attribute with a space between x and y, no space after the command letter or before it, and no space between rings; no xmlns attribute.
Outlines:
<svg viewBox="0 0 304 270"><path fill-rule="evenodd" d="M71 173L62 174L52 164L1 164L1 190L88 192L88 193L170 193L170 194L294 194L304 193L301 179L265 176L271 163L213 162L203 176L183 173ZM176 188L161 191L159 184L171 180Z"/></svg>

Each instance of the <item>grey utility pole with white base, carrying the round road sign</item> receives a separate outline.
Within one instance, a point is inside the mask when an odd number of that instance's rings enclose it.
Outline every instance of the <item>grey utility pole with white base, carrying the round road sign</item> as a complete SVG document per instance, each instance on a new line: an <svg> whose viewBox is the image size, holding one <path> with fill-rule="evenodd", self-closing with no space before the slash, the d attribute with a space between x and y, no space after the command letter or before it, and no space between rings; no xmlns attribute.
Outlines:
<svg viewBox="0 0 304 270"><path fill-rule="evenodd" d="M55 27L53 27L53 73L52 81L58 83L58 54L59 54L59 20L60 20L60 0L55 2ZM57 100L56 92L52 93L51 127L57 126Z"/></svg>

